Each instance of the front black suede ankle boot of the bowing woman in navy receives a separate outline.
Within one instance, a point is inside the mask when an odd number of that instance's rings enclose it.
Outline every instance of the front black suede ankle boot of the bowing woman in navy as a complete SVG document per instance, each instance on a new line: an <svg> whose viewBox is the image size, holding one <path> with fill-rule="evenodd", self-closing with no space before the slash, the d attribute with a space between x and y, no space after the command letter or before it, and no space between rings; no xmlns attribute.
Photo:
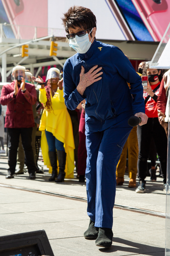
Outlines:
<svg viewBox="0 0 170 256"><path fill-rule="evenodd" d="M100 247L111 247L113 232L111 228L99 228L99 234L95 244Z"/></svg>

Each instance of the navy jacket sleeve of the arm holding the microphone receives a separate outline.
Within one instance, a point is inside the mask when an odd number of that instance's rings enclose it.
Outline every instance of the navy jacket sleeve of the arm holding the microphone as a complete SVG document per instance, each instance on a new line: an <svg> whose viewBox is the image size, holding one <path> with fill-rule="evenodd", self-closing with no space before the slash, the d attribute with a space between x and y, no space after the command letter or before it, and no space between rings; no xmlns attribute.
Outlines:
<svg viewBox="0 0 170 256"><path fill-rule="evenodd" d="M145 113L145 103L143 98L143 86L141 77L136 73L129 59L117 47L112 48L111 61L118 73L130 84L130 92L133 96L133 114Z"/></svg>

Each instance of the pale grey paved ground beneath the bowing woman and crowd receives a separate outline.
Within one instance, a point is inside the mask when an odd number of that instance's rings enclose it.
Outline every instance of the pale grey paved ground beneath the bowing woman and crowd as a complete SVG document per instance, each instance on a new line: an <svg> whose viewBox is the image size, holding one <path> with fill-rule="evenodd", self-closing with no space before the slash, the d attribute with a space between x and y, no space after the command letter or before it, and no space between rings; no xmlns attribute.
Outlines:
<svg viewBox="0 0 170 256"><path fill-rule="evenodd" d="M114 207L112 246L100 248L94 240L86 240L83 236L89 224L86 200L3 187L37 189L86 199L86 183L79 183L76 178L65 179L61 184L49 182L47 168L43 162L39 164L44 174L37 174L36 180L29 180L28 174L5 179L7 156L1 154L0 236L44 229L55 256L165 255L165 218ZM146 180L146 193L140 194L128 188L129 179L125 176L124 185L116 187L115 204L165 213L162 178L157 178L156 182L150 182L149 177Z"/></svg>

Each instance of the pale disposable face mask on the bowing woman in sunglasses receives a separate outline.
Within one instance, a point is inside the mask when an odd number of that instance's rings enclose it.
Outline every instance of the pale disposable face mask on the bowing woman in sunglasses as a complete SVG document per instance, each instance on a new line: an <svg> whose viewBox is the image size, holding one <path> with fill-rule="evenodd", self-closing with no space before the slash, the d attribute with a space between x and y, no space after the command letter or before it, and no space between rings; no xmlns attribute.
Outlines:
<svg viewBox="0 0 170 256"><path fill-rule="evenodd" d="M92 32L92 30L90 31L90 33ZM90 33L86 33L84 36L76 35L75 38L69 39L69 46L75 49L78 53L86 53L92 44L92 40L90 41L88 37Z"/></svg>

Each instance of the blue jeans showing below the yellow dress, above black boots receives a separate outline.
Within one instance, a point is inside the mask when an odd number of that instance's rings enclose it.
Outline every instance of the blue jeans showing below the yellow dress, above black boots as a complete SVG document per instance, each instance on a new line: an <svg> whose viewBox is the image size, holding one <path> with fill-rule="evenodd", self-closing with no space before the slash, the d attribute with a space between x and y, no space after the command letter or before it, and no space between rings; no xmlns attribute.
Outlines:
<svg viewBox="0 0 170 256"><path fill-rule="evenodd" d="M48 143L48 151L56 152L56 150L62 150L65 152L63 142L56 139L56 137L48 131L45 131L45 135Z"/></svg>

